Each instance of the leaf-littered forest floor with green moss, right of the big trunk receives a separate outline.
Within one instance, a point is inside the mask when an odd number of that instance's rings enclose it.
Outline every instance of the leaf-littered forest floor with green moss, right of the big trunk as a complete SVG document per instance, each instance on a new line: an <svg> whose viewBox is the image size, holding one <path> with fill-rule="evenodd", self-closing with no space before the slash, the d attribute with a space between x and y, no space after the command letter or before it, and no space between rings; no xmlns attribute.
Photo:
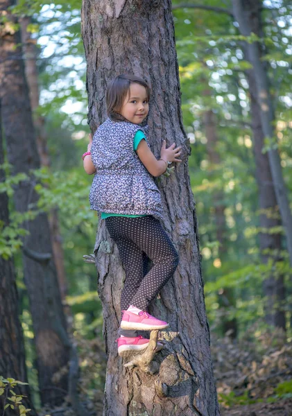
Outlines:
<svg viewBox="0 0 292 416"><path fill-rule="evenodd" d="M292 345L281 331L212 338L221 416L292 416Z"/></svg>

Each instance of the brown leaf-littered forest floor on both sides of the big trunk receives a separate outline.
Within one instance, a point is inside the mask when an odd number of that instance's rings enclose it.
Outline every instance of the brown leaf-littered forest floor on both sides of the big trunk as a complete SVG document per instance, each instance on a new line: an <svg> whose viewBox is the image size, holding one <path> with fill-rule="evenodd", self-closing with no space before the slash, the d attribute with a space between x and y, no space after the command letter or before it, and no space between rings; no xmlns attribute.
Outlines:
<svg viewBox="0 0 292 416"><path fill-rule="evenodd" d="M256 335L255 335L256 334ZM103 414L106 356L103 341L76 338L82 366L80 390L92 415ZM241 340L211 336L212 361L221 416L292 416L292 344L281 331L246 331ZM95 384L94 390L92 385ZM90 393L90 398L88 397ZM64 416L74 416L62 406ZM42 409L40 416L60 413Z"/></svg>

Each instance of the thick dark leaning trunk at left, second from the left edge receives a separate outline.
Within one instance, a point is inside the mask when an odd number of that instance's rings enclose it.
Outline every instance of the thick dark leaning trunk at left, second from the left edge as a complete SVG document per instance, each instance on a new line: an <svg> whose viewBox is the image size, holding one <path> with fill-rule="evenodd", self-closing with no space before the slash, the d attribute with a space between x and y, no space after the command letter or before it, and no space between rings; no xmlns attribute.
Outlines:
<svg viewBox="0 0 292 416"><path fill-rule="evenodd" d="M0 10L13 6L11 0L0 0ZM15 19L12 20L15 22ZM19 32L8 21L1 26L0 39L0 99L3 130L12 173L26 173L28 180L15 187L14 200L17 211L24 213L37 202L35 180L31 169L40 167L35 144L35 133L24 76ZM24 239L24 281L33 318L37 370L42 403L59 404L68 392L69 342L62 311L55 266L51 257L49 223L46 214L26 220L23 227L29 231ZM40 253L41 256L37 256ZM40 257L37 259L37 257ZM62 372L55 374L59 370Z"/></svg>

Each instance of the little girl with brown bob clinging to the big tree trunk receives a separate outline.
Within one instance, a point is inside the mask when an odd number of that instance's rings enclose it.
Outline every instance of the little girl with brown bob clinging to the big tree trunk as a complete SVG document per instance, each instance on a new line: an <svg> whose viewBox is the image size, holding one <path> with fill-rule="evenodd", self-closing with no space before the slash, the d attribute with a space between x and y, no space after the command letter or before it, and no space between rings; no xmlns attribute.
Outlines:
<svg viewBox="0 0 292 416"><path fill-rule="evenodd" d="M166 148L164 140L160 159L151 152L146 125L149 99L150 89L143 79L114 78L106 96L109 118L96 130L83 155L86 173L95 173L90 207L101 212L126 272L119 355L147 347L149 340L137 336L136 330L169 326L146 310L178 266L178 253L160 224L162 203L153 176L162 175L169 163L181 162L181 148L174 143ZM148 259L153 262L149 271Z"/></svg>

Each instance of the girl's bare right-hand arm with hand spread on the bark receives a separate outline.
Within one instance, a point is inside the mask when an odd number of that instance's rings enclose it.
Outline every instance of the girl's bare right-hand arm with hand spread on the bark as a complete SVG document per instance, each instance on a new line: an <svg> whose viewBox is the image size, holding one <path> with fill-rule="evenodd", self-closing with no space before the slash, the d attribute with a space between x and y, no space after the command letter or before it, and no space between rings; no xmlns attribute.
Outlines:
<svg viewBox="0 0 292 416"><path fill-rule="evenodd" d="M150 148L148 148L146 140L142 139L137 147L136 153L152 176L160 176L166 171L168 162L182 162L178 159L181 153L180 150L180 147L175 148L175 143L166 149L166 141L164 140L160 151L160 160L157 160Z"/></svg>

